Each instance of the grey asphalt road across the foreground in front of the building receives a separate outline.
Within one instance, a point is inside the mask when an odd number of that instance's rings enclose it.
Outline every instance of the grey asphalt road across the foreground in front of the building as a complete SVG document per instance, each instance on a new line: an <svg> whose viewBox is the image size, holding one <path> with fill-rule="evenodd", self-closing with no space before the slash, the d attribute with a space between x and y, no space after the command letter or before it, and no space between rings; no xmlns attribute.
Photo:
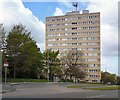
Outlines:
<svg viewBox="0 0 120 100"><path fill-rule="evenodd" d="M22 83L3 98L118 98L118 90L96 91L68 88L72 83Z"/></svg>

